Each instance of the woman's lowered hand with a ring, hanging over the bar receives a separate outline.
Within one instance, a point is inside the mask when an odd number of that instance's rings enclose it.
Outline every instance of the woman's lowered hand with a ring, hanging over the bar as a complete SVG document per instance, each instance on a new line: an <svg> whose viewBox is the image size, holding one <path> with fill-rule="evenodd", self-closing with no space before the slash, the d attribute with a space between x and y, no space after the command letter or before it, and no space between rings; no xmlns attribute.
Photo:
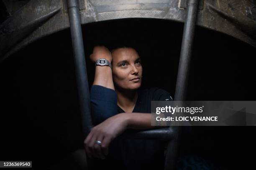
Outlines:
<svg viewBox="0 0 256 170"><path fill-rule="evenodd" d="M84 140L87 155L89 157L105 159L105 156L108 155L110 142L123 133L127 126L128 114L119 113L92 128L91 132ZM101 141L101 145L96 144L96 140Z"/></svg>

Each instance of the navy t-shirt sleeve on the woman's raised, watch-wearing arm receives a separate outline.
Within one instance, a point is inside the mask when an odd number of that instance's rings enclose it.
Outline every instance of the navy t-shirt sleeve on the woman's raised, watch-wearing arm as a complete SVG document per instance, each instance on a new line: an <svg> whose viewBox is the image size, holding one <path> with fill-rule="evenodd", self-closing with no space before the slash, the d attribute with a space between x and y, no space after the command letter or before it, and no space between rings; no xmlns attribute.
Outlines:
<svg viewBox="0 0 256 170"><path fill-rule="evenodd" d="M115 90L100 85L92 85L90 98L94 125L117 114L117 94Z"/></svg>

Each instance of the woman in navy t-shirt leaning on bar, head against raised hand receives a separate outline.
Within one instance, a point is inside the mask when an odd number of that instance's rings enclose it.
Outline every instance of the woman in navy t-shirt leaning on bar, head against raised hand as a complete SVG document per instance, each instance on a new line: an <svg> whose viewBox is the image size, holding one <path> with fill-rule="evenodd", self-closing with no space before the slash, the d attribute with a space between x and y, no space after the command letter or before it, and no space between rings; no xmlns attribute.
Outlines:
<svg viewBox="0 0 256 170"><path fill-rule="evenodd" d="M105 159L101 164L105 168L163 168L163 142L115 138L125 130L156 128L151 126L151 100L172 100L169 92L159 88L140 89L141 59L131 47L110 52L106 47L96 46L90 59L97 63L91 89L92 118L96 126L84 140L87 155ZM112 69L108 62L112 62Z"/></svg>

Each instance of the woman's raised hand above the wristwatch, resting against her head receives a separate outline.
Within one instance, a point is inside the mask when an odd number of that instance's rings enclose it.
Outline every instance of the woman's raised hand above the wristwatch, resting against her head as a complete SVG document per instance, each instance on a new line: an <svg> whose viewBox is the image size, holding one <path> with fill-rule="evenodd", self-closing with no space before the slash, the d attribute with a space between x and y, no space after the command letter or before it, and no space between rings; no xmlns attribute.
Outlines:
<svg viewBox="0 0 256 170"><path fill-rule="evenodd" d="M111 55L111 52L108 50L107 47L95 46L93 48L93 52L90 55L90 59L92 60L92 62L96 62L96 60L98 60L100 58L105 58L109 62L112 62L112 55Z"/></svg>

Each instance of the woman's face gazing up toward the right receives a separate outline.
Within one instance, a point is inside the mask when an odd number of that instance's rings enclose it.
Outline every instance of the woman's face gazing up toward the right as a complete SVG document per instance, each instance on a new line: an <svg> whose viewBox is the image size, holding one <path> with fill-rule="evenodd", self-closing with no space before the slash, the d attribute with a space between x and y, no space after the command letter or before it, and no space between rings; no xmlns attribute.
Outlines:
<svg viewBox="0 0 256 170"><path fill-rule="evenodd" d="M133 48L118 48L112 52L112 72L115 86L136 90L141 86L141 59Z"/></svg>

